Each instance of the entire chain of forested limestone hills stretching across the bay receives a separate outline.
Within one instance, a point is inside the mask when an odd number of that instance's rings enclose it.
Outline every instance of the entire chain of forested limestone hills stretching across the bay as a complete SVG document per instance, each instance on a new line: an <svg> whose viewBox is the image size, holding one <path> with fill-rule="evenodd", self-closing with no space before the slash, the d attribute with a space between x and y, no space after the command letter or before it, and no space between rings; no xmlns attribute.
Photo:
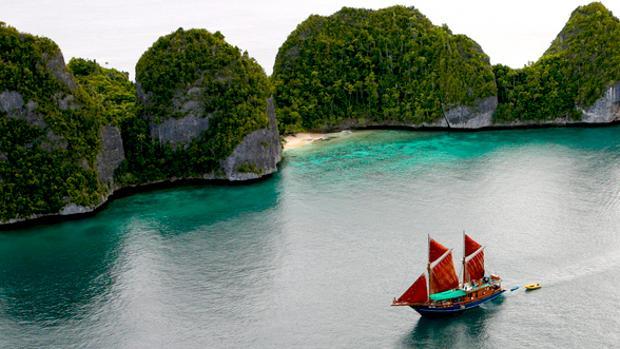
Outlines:
<svg viewBox="0 0 620 349"><path fill-rule="evenodd" d="M271 77L221 33L179 29L134 83L93 60L65 65L50 39L0 22L0 225L93 212L124 188L258 179L297 132L614 123L618 38L618 18L591 3L512 69L414 8L343 8L301 23Z"/></svg>

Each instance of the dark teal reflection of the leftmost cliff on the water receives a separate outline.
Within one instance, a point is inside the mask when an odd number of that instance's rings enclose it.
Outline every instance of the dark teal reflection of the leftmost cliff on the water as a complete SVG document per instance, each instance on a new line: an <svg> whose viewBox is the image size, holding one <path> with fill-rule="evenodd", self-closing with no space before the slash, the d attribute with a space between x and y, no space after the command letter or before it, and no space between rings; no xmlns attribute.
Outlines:
<svg viewBox="0 0 620 349"><path fill-rule="evenodd" d="M111 284L119 225L96 221L4 234L0 238L0 300L16 321L55 321L82 307Z"/></svg>

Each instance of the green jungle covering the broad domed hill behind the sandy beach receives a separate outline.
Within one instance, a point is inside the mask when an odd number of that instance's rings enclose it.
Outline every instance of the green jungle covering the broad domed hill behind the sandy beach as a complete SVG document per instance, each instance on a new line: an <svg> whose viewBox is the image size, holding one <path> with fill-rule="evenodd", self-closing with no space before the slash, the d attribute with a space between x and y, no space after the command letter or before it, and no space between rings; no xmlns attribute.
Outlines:
<svg viewBox="0 0 620 349"><path fill-rule="evenodd" d="M282 133L350 118L434 122L443 109L497 94L488 56L414 8L343 8L310 16L280 48L273 81Z"/></svg>

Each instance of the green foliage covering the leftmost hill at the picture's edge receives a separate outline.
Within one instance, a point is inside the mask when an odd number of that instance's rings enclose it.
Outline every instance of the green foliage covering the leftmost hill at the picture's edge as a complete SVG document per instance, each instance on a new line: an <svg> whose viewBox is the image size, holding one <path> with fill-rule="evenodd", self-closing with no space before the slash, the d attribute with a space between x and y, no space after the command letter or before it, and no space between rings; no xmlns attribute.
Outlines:
<svg viewBox="0 0 620 349"><path fill-rule="evenodd" d="M60 55L53 41L0 22L0 93L18 92L33 107L0 111L1 220L93 205L104 190L93 170L98 110L84 89L58 77L66 73Z"/></svg>

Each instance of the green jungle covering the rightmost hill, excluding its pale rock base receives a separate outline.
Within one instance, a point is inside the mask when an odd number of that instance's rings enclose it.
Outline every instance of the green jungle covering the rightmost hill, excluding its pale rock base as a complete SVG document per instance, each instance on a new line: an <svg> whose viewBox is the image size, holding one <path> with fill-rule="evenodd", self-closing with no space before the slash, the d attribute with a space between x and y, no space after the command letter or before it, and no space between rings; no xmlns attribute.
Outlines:
<svg viewBox="0 0 620 349"><path fill-rule="evenodd" d="M495 121L579 119L620 81L620 21L601 3L580 6L544 55L522 69L493 67Z"/></svg>

